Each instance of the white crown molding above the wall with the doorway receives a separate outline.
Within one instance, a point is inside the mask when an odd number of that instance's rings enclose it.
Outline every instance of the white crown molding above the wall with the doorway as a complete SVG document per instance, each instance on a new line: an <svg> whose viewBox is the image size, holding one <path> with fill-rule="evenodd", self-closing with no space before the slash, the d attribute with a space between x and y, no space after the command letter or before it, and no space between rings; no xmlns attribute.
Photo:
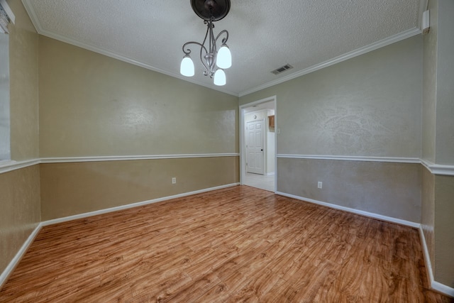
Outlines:
<svg viewBox="0 0 454 303"><path fill-rule="evenodd" d="M266 89L268 87L272 87L273 85L280 84L283 82L287 82L289 80L295 79L297 77L301 77L303 75L307 75L311 72L315 72L316 70L321 70L322 68L328 67L330 65L335 65L336 63L348 60L353 57L357 57L359 55L369 53L372 50L377 50L378 48L382 48L386 45L392 44L399 42L400 40L404 40L406 38L413 37L414 35L419 35L421 33L421 30L419 28L411 28L407 31L403 31L402 33L398 33L397 35L392 35L391 37L385 38L383 40L377 41L375 43L372 43L370 45L366 45L362 48L358 48L356 50L353 50L349 53L345 53L343 55L340 55L338 57L333 57L333 59L326 60L325 62L321 62L316 65L312 65L311 67L307 67L304 70L300 70L299 72L294 72L293 74L290 74L288 76L276 79L275 81L268 82L265 84L262 84L258 87L254 87L253 89L248 89L247 91L240 92L239 96L243 97L248 94L252 94L253 92L258 92L262 89Z"/></svg>

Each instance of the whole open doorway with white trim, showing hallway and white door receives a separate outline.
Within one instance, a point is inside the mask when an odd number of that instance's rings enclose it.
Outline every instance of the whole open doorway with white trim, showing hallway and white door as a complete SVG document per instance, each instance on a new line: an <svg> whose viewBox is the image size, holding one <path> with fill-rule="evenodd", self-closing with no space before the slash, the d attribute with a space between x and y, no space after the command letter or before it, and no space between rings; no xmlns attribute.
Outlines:
<svg viewBox="0 0 454 303"><path fill-rule="evenodd" d="M240 106L240 184L276 192L276 97Z"/></svg>

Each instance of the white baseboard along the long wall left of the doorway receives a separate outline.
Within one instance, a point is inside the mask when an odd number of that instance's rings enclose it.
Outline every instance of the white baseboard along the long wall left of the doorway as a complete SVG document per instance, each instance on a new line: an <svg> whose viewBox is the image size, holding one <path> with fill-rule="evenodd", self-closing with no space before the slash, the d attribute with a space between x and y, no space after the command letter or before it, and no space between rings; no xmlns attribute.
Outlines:
<svg viewBox="0 0 454 303"><path fill-rule="evenodd" d="M143 205L153 204L153 203L162 202L162 201L166 201L166 200L170 200L170 199L186 197L186 196L190 196L192 194L201 194L202 192L211 192L211 191L216 190L216 189L223 189L223 188L227 188L227 187L233 187L233 186L236 186L236 185L239 185L239 184L240 183L231 183L231 184L221 185L221 186L217 186L217 187L199 189L199 190L196 190L194 192L184 192L182 194L175 194L173 196L167 196L167 197L162 197L162 198L157 198L157 199L151 199L151 200L147 200L147 201L143 201L143 202L136 202L136 203L126 204L126 205L121 205L121 206L115 206L115 207L111 207L109 209L100 209L99 211L89 211L89 212L84 213L84 214L76 214L74 216L65 216L63 218L51 219L51 220L43 221L43 222L41 222L41 224L43 226L48 226L48 225L57 224L57 223L61 223L61 222L72 221L72 220L75 220L75 219L87 218L89 216L97 216L99 214L107 214L107 213L112 212L112 211L121 211L123 209L131 209L131 208L137 207L137 206L143 206Z"/></svg>

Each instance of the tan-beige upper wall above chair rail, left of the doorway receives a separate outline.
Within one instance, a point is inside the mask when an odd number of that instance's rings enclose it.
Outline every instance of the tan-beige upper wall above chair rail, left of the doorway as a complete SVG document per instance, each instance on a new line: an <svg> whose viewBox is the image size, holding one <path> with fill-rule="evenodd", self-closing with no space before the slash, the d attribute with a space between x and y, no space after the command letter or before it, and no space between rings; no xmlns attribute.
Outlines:
<svg viewBox="0 0 454 303"><path fill-rule="evenodd" d="M238 97L40 36L40 155L238 153Z"/></svg>

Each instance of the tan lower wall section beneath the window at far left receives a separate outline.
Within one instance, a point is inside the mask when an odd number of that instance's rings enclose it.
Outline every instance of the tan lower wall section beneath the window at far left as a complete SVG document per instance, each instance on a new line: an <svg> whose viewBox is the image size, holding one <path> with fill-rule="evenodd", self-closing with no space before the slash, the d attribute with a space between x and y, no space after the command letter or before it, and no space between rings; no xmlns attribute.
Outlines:
<svg viewBox="0 0 454 303"><path fill-rule="evenodd" d="M0 174L0 272L40 222L39 165Z"/></svg>

